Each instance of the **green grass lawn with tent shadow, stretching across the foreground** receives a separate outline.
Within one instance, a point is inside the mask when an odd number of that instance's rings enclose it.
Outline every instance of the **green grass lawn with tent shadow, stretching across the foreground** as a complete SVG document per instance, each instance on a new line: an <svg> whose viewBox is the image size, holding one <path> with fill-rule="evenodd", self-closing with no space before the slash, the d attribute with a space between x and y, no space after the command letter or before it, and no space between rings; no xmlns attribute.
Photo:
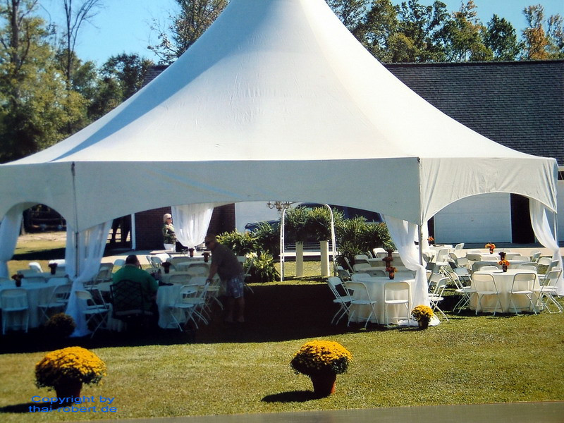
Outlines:
<svg viewBox="0 0 564 423"><path fill-rule="evenodd" d="M17 264L11 263L11 266ZM336 308L319 276L255 284L247 323L216 318L194 333L159 331L142 336L99 332L94 340L55 343L41 331L0 338L0 413L3 422L127 417L223 415L400 405L564 400L564 314L537 316L448 313L450 321L427 331L369 325L331 326ZM446 307L448 308L448 307ZM337 393L312 395L307 376L289 362L302 343L337 341L353 353ZM32 396L54 396L34 384L34 366L56 348L80 345L106 362L102 386L83 396L115 398L114 413L30 413ZM85 407L91 406L86 404Z"/></svg>

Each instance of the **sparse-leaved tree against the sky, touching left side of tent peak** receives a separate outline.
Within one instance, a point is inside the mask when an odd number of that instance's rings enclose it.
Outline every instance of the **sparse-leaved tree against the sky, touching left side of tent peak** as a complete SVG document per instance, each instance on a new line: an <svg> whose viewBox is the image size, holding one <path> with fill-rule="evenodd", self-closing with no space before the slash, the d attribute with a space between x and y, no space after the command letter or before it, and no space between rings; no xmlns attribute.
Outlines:
<svg viewBox="0 0 564 423"><path fill-rule="evenodd" d="M159 56L161 63L172 63L188 50L214 23L228 0L176 0L176 3L180 11L176 16L169 16L171 25L166 29L152 27L158 33L159 44L149 49Z"/></svg>

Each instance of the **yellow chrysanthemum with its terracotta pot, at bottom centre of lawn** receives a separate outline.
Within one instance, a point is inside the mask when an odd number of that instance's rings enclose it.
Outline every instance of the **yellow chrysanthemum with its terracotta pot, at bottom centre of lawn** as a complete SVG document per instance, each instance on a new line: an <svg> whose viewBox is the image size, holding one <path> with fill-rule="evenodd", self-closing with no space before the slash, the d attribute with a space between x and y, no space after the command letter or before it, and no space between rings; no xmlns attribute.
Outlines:
<svg viewBox="0 0 564 423"><path fill-rule="evenodd" d="M302 345L290 361L296 374L312 379L314 393L325 397L335 393L337 374L347 372L353 355L333 341L311 341Z"/></svg>

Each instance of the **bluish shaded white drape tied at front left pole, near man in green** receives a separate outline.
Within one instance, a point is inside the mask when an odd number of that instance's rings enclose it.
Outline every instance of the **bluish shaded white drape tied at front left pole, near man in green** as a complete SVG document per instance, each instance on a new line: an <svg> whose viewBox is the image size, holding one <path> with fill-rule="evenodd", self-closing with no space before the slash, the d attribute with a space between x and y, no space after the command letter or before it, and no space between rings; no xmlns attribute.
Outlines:
<svg viewBox="0 0 564 423"><path fill-rule="evenodd" d="M73 280L73 288L68 300L66 314L73 317L76 322L73 336L85 336L90 333L84 316L80 313L80 304L75 291L83 290L84 283L98 274L111 222L100 223L78 233L78 240L74 231L67 227L65 263L67 274ZM78 269L76 268L77 264Z"/></svg>

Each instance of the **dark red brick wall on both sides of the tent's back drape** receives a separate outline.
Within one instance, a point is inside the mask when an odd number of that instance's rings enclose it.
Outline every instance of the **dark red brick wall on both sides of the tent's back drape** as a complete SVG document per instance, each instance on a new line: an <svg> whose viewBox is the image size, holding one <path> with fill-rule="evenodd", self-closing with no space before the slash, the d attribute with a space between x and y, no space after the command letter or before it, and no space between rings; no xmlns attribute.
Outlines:
<svg viewBox="0 0 564 423"><path fill-rule="evenodd" d="M170 213L171 207L147 210L135 214L135 242L137 250L163 249L163 215ZM209 233L230 232L235 229L235 204L214 208L209 222Z"/></svg>

